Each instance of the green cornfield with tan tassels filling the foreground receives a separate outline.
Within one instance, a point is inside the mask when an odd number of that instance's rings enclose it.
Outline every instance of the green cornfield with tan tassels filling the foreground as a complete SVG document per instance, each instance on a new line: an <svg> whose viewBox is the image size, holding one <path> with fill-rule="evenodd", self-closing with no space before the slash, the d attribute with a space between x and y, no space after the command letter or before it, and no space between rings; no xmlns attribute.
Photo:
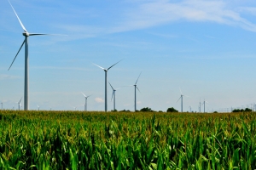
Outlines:
<svg viewBox="0 0 256 170"><path fill-rule="evenodd" d="M256 113L0 111L0 169L255 169Z"/></svg>

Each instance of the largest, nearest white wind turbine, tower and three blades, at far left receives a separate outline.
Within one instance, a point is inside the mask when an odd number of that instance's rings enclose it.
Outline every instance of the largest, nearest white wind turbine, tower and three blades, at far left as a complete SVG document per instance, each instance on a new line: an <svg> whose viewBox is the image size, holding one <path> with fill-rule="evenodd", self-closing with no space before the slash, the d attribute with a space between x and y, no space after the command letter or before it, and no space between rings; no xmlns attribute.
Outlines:
<svg viewBox="0 0 256 170"><path fill-rule="evenodd" d="M12 4L9 2L10 6L13 8L14 12L15 12L15 8L12 6ZM18 14L15 12L15 15L17 17L17 19L20 22L20 26L23 29L23 36L25 37L24 41L22 42L20 49L23 47L23 45L25 44L25 82L24 82L24 110L27 111L29 110L29 59L28 59L28 37L30 36L43 36L43 35L48 35L48 34L41 34L41 33L29 33L28 31L26 31L25 26L23 26ZM17 55L20 53L20 49L18 51L18 53L15 55L15 59L17 57ZM13 65L13 63L15 62L15 59L13 60L12 64L9 66L9 69L11 68L11 66ZM9 70L8 69L8 70Z"/></svg>

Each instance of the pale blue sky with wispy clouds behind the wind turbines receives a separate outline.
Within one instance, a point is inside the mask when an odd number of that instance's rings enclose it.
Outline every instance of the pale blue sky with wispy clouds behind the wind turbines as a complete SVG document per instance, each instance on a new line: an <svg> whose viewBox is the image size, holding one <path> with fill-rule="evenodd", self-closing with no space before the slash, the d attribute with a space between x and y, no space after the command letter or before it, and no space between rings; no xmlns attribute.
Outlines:
<svg viewBox="0 0 256 170"><path fill-rule="evenodd" d="M114 88L137 82L137 109L207 111L256 102L256 2L253 0L12 0L29 37L30 109L104 110L104 71ZM24 37L4 0L0 6L0 100L5 109L24 93ZM108 110L113 109L108 86ZM134 88L116 92L116 108L133 110ZM23 100L22 102L23 103Z"/></svg>

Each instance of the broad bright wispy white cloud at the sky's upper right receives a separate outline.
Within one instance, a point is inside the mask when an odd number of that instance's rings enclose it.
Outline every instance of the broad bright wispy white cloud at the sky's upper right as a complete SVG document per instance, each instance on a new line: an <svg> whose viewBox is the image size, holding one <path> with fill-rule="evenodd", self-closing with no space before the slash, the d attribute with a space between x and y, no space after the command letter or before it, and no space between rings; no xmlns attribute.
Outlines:
<svg viewBox="0 0 256 170"><path fill-rule="evenodd" d="M184 0L171 3L168 0L159 0L140 4L137 9L127 13L125 21L113 28L112 32L144 29L177 20L210 21L256 31L256 25L242 18L241 14L230 9L223 1Z"/></svg>

